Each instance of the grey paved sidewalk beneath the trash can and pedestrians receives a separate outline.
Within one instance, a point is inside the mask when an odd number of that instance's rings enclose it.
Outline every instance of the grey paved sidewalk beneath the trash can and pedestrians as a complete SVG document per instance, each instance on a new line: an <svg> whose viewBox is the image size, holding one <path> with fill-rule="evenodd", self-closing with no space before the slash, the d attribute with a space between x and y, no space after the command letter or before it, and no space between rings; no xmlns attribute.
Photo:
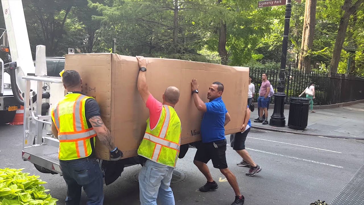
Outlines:
<svg viewBox="0 0 364 205"><path fill-rule="evenodd" d="M273 106L268 109L268 119L273 113ZM250 114L253 128L269 129L272 131L292 132L317 136L355 137L364 139L364 103L331 109L316 109L309 112L307 127L295 130L288 127L289 109L284 110L285 127L274 127L269 124L254 123L258 117L258 109Z"/></svg>

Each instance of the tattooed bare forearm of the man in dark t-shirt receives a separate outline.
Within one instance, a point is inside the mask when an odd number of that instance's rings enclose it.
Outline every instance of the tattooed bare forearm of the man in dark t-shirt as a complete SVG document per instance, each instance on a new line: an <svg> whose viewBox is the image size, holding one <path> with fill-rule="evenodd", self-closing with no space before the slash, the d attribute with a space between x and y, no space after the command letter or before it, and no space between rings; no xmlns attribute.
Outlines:
<svg viewBox="0 0 364 205"><path fill-rule="evenodd" d="M113 151L116 149L114 142L112 142L110 131L106 128L100 116L95 116L90 118L90 123L94 130L96 131L97 136L100 141L110 150Z"/></svg>

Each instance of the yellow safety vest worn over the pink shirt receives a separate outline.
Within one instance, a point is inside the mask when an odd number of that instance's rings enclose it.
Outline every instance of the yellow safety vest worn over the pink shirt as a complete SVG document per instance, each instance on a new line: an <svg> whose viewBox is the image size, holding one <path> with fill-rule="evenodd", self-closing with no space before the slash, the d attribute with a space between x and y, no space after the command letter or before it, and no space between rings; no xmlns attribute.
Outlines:
<svg viewBox="0 0 364 205"><path fill-rule="evenodd" d="M175 167L181 144L181 121L173 107L163 105L158 124L150 129L149 118L138 155L162 165Z"/></svg>

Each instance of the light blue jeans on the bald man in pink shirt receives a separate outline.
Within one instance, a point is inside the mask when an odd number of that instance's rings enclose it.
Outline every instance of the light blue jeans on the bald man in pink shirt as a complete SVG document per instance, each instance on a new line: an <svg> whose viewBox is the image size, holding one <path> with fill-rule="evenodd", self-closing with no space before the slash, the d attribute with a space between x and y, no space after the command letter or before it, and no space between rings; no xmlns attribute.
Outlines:
<svg viewBox="0 0 364 205"><path fill-rule="evenodd" d="M147 160L139 171L139 198L141 205L175 205L170 187L174 168Z"/></svg>

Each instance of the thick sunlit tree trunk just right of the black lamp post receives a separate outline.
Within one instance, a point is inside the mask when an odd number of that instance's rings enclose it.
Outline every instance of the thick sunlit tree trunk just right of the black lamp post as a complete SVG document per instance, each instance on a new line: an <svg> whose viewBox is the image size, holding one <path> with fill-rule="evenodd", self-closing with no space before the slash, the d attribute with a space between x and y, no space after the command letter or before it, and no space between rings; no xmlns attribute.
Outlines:
<svg viewBox="0 0 364 205"><path fill-rule="evenodd" d="M306 0L305 17L302 30L302 43L298 68L305 73L311 71L311 59L307 55L312 49L313 37L316 25L316 4L317 0Z"/></svg>

